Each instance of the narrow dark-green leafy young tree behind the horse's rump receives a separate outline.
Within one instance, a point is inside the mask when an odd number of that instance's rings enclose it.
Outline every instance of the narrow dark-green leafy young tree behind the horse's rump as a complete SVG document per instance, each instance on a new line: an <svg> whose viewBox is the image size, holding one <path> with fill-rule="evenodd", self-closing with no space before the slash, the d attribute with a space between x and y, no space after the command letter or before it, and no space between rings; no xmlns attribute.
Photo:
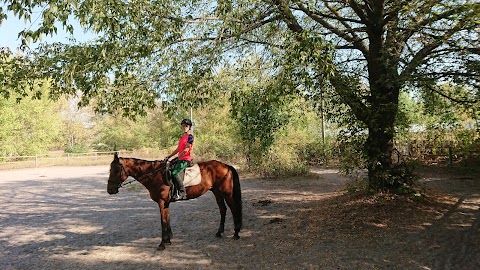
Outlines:
<svg viewBox="0 0 480 270"><path fill-rule="evenodd" d="M268 67L258 58L246 62L237 70L241 76L236 81L238 89L230 96L232 117L238 124L248 164L254 167L261 165L278 132L288 124L293 100L288 94L291 84L282 76L272 78Z"/></svg>

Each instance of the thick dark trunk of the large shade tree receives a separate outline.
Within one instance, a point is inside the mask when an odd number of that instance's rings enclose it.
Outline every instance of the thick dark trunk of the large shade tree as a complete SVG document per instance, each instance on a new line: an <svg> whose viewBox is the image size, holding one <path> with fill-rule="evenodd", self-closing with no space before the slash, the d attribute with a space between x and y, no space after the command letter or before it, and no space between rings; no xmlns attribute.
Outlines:
<svg viewBox="0 0 480 270"><path fill-rule="evenodd" d="M367 99L368 117L364 119L368 127L368 139L364 149L368 182L373 189L395 187L397 181L391 174L391 157L401 85L396 51L385 49L382 14L382 9L378 7L372 18L377 23L368 24L367 30L369 53L366 58L370 96Z"/></svg>

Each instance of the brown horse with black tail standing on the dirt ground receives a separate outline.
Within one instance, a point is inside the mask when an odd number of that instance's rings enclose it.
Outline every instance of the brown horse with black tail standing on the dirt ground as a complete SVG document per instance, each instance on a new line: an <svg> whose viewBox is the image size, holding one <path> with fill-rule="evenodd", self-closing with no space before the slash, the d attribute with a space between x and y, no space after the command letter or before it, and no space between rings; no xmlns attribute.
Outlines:
<svg viewBox="0 0 480 270"><path fill-rule="evenodd" d="M239 239L238 233L242 227L242 195L238 173L230 165L216 160L200 162L201 182L198 185L187 187L187 198L197 198L211 190L220 209L220 226L217 237L222 237L225 227L227 207L230 207L235 225L234 238ZM136 158L119 158L114 155L110 164L107 191L109 194L118 193L118 189L129 176L142 183L150 192L150 198L160 207L162 225L162 242L158 250L165 249L165 243L170 244L173 236L170 227L169 204L171 199L170 189L166 183L167 163L165 161L148 161Z"/></svg>

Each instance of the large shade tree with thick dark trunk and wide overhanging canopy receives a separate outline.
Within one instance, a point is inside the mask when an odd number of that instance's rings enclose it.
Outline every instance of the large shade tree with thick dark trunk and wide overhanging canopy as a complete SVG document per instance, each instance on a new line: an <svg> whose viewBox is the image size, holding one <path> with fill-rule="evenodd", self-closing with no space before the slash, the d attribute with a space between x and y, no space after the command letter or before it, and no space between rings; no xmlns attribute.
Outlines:
<svg viewBox="0 0 480 270"><path fill-rule="evenodd" d="M295 82L297 94L329 85L368 130L372 188L396 184L391 153L406 85L441 91L437 82L450 81L479 90L480 4L474 0L4 2L21 18L44 7L43 24L22 33L25 38L54 32L55 21L69 29L69 14L102 34L93 44L44 46L37 61L59 93L80 90L87 101L117 86L130 89L113 96L131 97L126 107L133 111L158 94L203 96L199 82L249 50L275 59L278 68L270 72Z"/></svg>

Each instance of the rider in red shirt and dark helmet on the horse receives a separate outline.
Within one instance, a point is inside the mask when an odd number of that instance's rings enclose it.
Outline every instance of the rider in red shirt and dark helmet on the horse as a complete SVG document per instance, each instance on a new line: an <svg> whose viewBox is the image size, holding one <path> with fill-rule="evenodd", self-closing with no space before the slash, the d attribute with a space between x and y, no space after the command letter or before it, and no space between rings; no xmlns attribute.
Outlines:
<svg viewBox="0 0 480 270"><path fill-rule="evenodd" d="M193 135L192 135L192 121L190 119L183 119L180 124L183 130L183 135L178 140L178 146L175 151L165 157L165 160L169 160L175 154L178 154L178 161L172 169L173 184L177 187L178 191L172 197L172 201L186 200L187 194L183 180L180 173L185 170L192 162L192 149L193 149Z"/></svg>

